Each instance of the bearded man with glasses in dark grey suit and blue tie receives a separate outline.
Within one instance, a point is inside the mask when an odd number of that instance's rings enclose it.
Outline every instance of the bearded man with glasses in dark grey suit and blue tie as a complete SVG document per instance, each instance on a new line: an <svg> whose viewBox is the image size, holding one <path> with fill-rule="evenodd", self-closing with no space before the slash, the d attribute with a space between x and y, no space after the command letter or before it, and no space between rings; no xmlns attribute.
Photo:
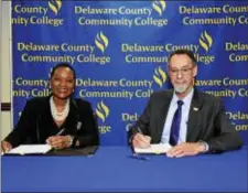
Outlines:
<svg viewBox="0 0 248 193"><path fill-rule="evenodd" d="M153 93L129 130L133 147L170 143L168 157L224 152L242 142L227 119L222 100L194 88L197 66L194 54L177 50L169 57L168 72L173 90Z"/></svg>

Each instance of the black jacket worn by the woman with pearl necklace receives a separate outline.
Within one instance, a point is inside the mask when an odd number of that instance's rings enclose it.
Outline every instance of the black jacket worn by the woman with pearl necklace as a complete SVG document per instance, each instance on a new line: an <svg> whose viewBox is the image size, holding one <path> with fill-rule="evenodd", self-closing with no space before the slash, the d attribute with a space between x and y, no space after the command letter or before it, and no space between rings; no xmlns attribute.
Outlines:
<svg viewBox="0 0 248 193"><path fill-rule="evenodd" d="M15 128L4 140L13 147L23 143L45 143L50 136L55 136L64 128L62 136L75 136L74 144L76 140L79 140L79 147L98 146L97 122L90 104L73 98L69 104L68 116L58 128L51 114L50 97L29 100Z"/></svg>

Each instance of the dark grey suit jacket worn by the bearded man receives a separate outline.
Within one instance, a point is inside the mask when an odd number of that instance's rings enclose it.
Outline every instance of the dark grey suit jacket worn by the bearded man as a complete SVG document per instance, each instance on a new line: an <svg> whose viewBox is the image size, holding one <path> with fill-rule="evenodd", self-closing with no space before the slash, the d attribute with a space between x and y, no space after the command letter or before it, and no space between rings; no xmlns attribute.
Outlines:
<svg viewBox="0 0 248 193"><path fill-rule="evenodd" d="M161 141L173 90L153 93L148 105L129 130L129 141L139 129L152 138L151 143ZM188 114L186 142L205 141L209 152L223 152L241 147L242 142L227 119L220 98L194 89Z"/></svg>

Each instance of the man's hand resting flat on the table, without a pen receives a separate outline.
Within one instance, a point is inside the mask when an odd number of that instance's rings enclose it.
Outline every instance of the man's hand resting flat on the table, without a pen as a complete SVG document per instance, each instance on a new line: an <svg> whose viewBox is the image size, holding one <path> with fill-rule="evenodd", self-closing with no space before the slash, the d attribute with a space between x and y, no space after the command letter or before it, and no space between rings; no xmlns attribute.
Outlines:
<svg viewBox="0 0 248 193"><path fill-rule="evenodd" d="M205 152L206 147L198 142L183 142L181 144L175 146L170 151L168 151L166 156L170 158L181 158L186 156L195 156L201 152Z"/></svg>

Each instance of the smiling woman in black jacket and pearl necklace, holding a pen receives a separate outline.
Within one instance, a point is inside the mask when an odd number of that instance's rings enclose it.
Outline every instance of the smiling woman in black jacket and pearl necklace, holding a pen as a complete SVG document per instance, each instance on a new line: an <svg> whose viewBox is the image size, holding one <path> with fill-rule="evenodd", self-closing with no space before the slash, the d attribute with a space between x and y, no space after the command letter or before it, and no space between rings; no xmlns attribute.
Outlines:
<svg viewBox="0 0 248 193"><path fill-rule="evenodd" d="M48 143L55 149L98 146L90 104L73 99L76 73L62 63L51 73L52 94L29 100L12 132L1 142L4 152L23 143Z"/></svg>

